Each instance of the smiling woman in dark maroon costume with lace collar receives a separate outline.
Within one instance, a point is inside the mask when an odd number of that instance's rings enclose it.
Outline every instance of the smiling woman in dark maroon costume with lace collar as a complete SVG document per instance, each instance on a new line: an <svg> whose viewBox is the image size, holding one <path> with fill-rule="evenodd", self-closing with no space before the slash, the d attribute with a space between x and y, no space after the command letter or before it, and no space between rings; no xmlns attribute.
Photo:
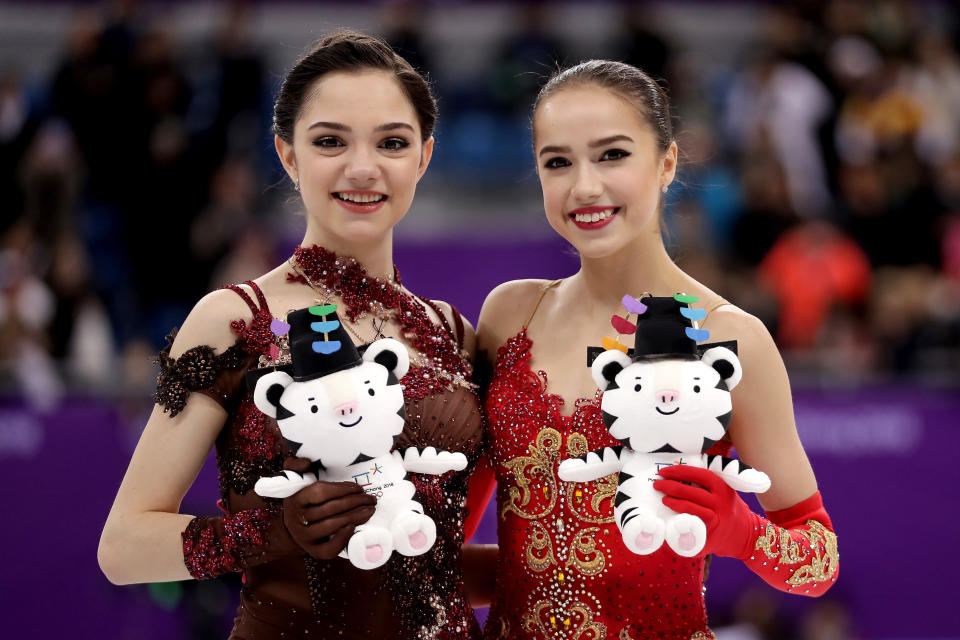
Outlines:
<svg viewBox="0 0 960 640"><path fill-rule="evenodd" d="M435 119L423 77L370 36L326 37L288 73L273 128L306 209L303 242L273 271L204 297L160 354L157 404L100 542L111 582L243 572L233 638L479 635L460 569L466 479L482 447L473 331L450 305L407 290L392 259L393 227L430 163ZM386 335L409 349L400 446L442 445L470 461L459 473L411 474L437 541L376 570L337 557L374 510L359 485L317 482L283 501L253 491L288 450L244 374L289 357L288 311L327 303L358 346ZM225 515L180 514L213 445ZM300 471L303 462L287 461Z"/></svg>

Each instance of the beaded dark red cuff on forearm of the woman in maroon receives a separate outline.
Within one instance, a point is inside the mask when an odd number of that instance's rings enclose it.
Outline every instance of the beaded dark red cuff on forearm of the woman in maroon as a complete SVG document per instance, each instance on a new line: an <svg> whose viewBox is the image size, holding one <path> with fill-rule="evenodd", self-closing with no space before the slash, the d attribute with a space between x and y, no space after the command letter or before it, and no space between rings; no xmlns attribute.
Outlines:
<svg viewBox="0 0 960 640"><path fill-rule="evenodd" d="M181 534L183 562L197 580L242 571L265 552L266 532L276 508L246 509L218 518L194 518Z"/></svg>

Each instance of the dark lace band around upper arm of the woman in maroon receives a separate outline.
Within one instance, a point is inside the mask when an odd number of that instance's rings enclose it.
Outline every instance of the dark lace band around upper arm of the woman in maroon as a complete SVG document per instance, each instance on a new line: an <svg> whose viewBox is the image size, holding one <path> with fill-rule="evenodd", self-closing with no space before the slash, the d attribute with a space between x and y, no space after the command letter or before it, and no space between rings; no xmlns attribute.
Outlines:
<svg viewBox="0 0 960 640"><path fill-rule="evenodd" d="M185 351L179 358L170 357L170 348L177 337L177 329L167 336L167 346L157 356L160 375L154 400L173 417L183 411L192 391L210 389L223 371L242 368L247 354L238 344L217 355L213 348L200 345Z"/></svg>

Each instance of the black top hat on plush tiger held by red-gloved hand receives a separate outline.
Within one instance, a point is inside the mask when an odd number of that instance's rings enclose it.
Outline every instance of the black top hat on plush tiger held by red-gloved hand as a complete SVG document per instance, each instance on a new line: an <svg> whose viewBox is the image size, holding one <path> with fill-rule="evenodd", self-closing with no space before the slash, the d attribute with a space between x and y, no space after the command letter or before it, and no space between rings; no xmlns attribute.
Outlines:
<svg viewBox="0 0 960 640"><path fill-rule="evenodd" d="M710 334L694 324L706 317L703 309L690 308L689 303L696 301L694 296L678 293L669 298L643 298L635 304L634 360L699 358L697 342L708 339Z"/></svg>

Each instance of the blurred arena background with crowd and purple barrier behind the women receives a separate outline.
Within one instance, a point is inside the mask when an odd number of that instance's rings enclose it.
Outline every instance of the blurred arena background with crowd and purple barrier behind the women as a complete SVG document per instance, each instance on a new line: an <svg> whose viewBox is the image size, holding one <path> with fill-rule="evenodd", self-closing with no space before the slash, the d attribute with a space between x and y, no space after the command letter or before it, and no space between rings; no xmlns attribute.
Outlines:
<svg viewBox="0 0 960 640"><path fill-rule="evenodd" d="M712 626L960 637L958 18L932 0L0 3L4 635L226 636L239 579L114 587L97 540L166 333L301 237L272 98L304 47L352 27L440 97L396 260L473 322L500 282L577 266L530 153L556 62L663 78L683 153L676 259L776 337L843 558L819 600L715 561ZM215 513L211 465L185 512ZM495 524L491 510L475 541Z"/></svg>

